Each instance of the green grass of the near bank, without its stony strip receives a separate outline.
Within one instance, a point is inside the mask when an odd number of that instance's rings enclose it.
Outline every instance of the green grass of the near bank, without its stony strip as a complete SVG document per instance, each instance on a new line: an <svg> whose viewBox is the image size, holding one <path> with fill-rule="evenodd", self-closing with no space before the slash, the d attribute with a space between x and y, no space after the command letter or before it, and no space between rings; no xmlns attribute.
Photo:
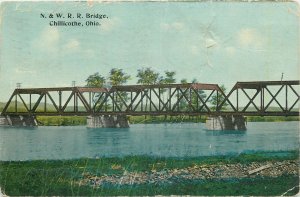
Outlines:
<svg viewBox="0 0 300 197"><path fill-rule="evenodd" d="M298 176L247 177L241 179L183 180L157 185L111 184L93 188L80 185L84 173L120 175L181 169L195 165L247 164L250 162L298 159L297 151L261 152L238 156L195 158L154 158L127 156L123 158L77 159L57 161L0 162L0 187L7 195L281 195L299 184ZM288 195L294 195L298 188Z"/></svg>

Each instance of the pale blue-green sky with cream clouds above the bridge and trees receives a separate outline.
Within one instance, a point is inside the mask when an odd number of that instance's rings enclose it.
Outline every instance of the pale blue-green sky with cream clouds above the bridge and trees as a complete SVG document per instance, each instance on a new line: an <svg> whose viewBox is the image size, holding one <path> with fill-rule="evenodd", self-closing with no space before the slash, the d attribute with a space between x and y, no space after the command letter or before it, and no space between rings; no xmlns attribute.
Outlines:
<svg viewBox="0 0 300 197"><path fill-rule="evenodd" d="M105 14L100 26L55 27L41 13ZM151 67L177 82L298 80L296 3L2 2L0 101L23 88L84 86L112 68L131 75ZM57 19L55 19L57 20ZM85 23L89 19L77 20Z"/></svg>

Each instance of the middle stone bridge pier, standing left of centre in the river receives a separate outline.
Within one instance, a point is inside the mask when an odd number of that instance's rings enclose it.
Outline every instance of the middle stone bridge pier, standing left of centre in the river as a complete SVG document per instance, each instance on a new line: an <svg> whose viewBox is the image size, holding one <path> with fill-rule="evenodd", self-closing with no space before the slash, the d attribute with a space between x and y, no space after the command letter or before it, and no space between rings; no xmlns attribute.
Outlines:
<svg viewBox="0 0 300 197"><path fill-rule="evenodd" d="M128 120L125 115L103 115L103 116L88 116L88 128L128 128Z"/></svg>

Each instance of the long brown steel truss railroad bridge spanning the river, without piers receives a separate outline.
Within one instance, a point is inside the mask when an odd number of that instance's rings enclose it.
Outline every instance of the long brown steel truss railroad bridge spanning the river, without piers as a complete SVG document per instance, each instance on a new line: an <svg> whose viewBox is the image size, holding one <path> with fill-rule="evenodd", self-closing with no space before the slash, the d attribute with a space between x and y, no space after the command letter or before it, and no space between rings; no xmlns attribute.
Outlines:
<svg viewBox="0 0 300 197"><path fill-rule="evenodd" d="M17 88L1 115L299 116L299 82L237 82L228 94L203 83Z"/></svg>

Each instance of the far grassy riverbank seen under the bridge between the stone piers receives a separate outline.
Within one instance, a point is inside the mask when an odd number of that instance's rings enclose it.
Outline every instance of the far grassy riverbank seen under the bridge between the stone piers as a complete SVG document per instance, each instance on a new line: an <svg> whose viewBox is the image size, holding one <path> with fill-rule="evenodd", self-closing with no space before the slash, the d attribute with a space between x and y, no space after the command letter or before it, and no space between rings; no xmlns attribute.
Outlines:
<svg viewBox="0 0 300 197"><path fill-rule="evenodd" d="M86 125L86 117L81 116L38 116L38 122L44 126L76 126ZM205 123L206 116L130 116L128 121L130 124L158 124L158 123L182 123L194 122ZM284 117L284 116L249 116L248 122L284 122L284 121L300 121L300 117Z"/></svg>

